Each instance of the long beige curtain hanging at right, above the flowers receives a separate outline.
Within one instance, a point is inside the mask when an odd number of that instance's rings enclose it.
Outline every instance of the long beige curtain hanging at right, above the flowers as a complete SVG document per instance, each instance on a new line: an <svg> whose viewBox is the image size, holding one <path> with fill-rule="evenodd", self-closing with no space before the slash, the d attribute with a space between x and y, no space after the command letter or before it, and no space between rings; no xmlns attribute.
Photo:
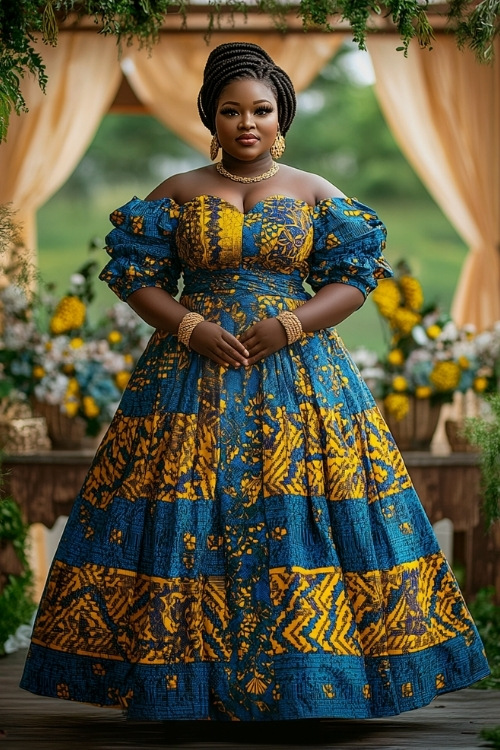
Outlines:
<svg viewBox="0 0 500 750"><path fill-rule="evenodd" d="M470 246L453 303L459 324L500 320L500 44L478 63L440 35L408 58L391 35L368 49L384 115L408 161ZM436 246L439 253L439 246Z"/></svg>

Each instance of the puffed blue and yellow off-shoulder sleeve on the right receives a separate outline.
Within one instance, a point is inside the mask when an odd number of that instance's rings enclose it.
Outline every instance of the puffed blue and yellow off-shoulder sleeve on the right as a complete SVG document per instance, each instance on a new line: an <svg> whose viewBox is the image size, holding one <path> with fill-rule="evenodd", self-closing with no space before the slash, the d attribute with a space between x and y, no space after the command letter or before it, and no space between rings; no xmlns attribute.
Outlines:
<svg viewBox="0 0 500 750"><path fill-rule="evenodd" d="M317 292L326 284L351 284L366 297L379 279L393 275L384 258L386 229L377 214L352 198L328 198L313 213L313 251L307 281Z"/></svg>

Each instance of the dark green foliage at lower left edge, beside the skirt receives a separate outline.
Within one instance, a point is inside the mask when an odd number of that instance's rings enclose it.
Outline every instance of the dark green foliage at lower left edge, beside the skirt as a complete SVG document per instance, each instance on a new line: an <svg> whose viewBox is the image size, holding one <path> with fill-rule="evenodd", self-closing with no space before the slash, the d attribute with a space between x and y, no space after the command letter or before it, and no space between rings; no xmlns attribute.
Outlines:
<svg viewBox="0 0 500 750"><path fill-rule="evenodd" d="M33 574L26 557L28 527L17 503L10 497L0 499L0 547L11 542L23 567L20 575L10 575L0 594L0 656L4 643L19 625L29 622L35 609L31 596Z"/></svg>

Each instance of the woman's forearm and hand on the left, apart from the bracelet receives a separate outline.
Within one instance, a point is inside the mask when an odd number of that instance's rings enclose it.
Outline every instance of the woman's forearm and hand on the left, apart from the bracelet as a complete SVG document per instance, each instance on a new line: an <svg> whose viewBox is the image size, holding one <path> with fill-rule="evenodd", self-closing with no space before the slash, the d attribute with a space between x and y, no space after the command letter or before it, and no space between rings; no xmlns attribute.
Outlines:
<svg viewBox="0 0 500 750"><path fill-rule="evenodd" d="M160 331L176 334L189 310L159 287L137 289L127 299L130 307L146 323ZM225 367L248 364L248 351L238 339L216 323L198 323L191 334L189 347L198 354Z"/></svg>

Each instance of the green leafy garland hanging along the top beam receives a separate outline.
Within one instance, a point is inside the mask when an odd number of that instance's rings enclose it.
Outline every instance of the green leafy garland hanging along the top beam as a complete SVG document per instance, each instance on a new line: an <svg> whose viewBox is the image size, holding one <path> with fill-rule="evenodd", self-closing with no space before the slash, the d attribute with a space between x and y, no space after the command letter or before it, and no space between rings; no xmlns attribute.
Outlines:
<svg viewBox="0 0 500 750"><path fill-rule="evenodd" d="M224 14L248 13L244 0L207 0L207 33L215 28L217 19ZM277 28L286 30L286 16L296 12L304 29L331 31L332 17L349 22L353 39L360 49L365 48L365 38L373 14L391 17L402 40L398 47L407 54L412 39L421 47L431 48L433 29L422 0L257 0L258 13L271 16ZM42 35L46 44L56 46L58 23L69 14L94 18L101 34L113 34L118 42L129 44L134 39L152 46L165 15L176 13L186 18L188 0L3 0L0 3L0 141L7 134L12 110L18 114L26 111L26 102L20 90L20 80L34 75L42 90L47 76L41 55L34 49L35 35ZM500 0L451 0L445 17L450 30L456 34L457 44L474 50L481 61L493 59L494 39L500 31Z"/></svg>

